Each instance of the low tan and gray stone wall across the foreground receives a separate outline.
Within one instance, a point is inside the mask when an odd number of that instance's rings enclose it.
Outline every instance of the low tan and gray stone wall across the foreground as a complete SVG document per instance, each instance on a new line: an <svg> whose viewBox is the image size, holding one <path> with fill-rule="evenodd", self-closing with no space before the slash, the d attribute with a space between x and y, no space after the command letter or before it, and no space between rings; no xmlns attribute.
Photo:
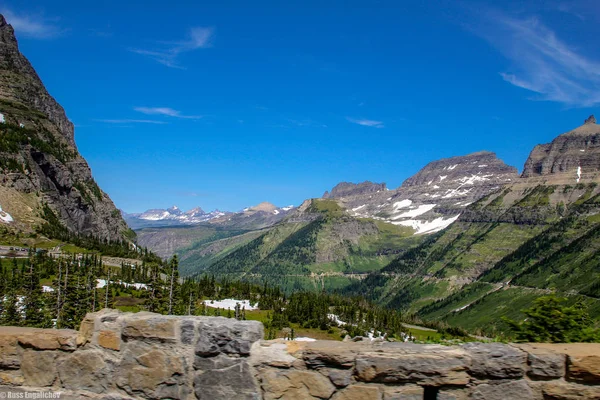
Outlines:
<svg viewBox="0 0 600 400"><path fill-rule="evenodd" d="M598 344L262 337L254 321L115 310L79 331L0 327L0 398L600 399Z"/></svg>

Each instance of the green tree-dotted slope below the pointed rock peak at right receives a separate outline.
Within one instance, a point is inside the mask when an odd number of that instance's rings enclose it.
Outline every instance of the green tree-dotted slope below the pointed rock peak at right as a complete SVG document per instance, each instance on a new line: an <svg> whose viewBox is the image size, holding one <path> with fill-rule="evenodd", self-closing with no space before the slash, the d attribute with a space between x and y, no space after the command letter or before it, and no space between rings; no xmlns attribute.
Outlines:
<svg viewBox="0 0 600 400"><path fill-rule="evenodd" d="M600 200L594 184L538 186L482 199L457 222L351 287L465 328L505 329L558 290L600 316ZM575 199L570 201L569 199ZM472 282L472 283L471 283Z"/></svg>

